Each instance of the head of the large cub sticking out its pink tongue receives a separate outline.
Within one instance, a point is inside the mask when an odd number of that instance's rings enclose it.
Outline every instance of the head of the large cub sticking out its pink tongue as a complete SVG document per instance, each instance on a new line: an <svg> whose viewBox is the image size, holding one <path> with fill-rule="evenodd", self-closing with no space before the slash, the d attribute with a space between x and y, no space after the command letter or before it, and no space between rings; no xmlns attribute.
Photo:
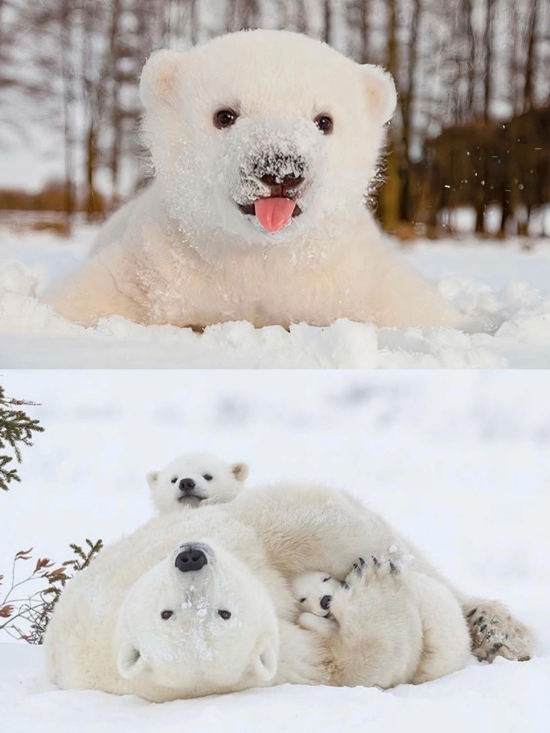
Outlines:
<svg viewBox="0 0 550 733"><path fill-rule="evenodd" d="M396 104L384 70L263 30L156 51L140 95L168 221L203 251L313 229L334 240L362 209Z"/></svg>

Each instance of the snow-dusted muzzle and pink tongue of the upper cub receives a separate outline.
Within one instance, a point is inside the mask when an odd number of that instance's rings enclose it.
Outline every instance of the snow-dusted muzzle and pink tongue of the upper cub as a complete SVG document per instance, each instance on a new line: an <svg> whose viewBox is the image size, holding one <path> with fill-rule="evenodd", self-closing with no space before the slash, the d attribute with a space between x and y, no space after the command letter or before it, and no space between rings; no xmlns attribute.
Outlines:
<svg viewBox="0 0 550 733"><path fill-rule="evenodd" d="M241 212L276 232L307 207L320 150L320 133L309 120L241 119L227 135L221 174Z"/></svg>

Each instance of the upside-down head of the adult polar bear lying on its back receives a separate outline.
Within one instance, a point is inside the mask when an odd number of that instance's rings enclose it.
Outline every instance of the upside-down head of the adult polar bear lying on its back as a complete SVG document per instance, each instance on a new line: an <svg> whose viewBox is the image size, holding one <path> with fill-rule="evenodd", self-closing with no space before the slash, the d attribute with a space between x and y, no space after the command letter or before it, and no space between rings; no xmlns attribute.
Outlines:
<svg viewBox="0 0 550 733"><path fill-rule="evenodd" d="M230 551L183 542L133 584L117 617L117 668L166 688L166 699L223 693L273 679L274 605Z"/></svg>

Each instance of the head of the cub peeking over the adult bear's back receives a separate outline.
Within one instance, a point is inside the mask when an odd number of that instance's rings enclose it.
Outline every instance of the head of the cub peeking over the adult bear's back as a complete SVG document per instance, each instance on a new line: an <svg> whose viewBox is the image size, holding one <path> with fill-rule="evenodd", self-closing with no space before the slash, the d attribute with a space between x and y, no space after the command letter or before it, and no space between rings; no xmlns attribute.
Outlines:
<svg viewBox="0 0 550 733"><path fill-rule="evenodd" d="M248 473L246 463L227 463L208 453L188 453L162 471L151 471L147 483L156 507L161 512L171 512L177 507L231 501Z"/></svg>

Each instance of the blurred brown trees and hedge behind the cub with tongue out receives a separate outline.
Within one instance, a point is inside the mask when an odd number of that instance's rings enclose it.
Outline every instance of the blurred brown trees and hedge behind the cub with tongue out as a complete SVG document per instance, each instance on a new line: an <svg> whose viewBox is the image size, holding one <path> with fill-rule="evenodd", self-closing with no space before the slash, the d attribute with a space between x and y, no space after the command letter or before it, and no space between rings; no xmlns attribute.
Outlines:
<svg viewBox="0 0 550 733"><path fill-rule="evenodd" d="M463 206L480 236L532 231L550 204L550 0L0 0L0 156L48 141L37 155L64 170L38 193L4 188L0 209L61 211L68 225L116 209L147 180L136 130L150 52L257 27L394 75L399 108L367 192L386 231L438 237Z"/></svg>

